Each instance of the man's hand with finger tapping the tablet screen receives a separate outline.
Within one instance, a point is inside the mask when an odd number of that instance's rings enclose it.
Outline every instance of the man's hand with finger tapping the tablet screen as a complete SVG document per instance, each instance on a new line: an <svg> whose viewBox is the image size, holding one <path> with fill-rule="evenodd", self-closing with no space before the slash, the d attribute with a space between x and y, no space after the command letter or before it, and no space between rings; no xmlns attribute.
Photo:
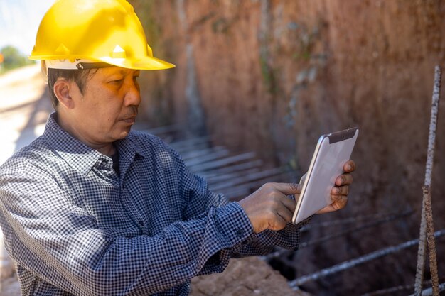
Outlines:
<svg viewBox="0 0 445 296"><path fill-rule="evenodd" d="M301 185L267 183L238 202L245 210L254 232L284 229L294 215L296 202L287 195L299 194Z"/></svg>

